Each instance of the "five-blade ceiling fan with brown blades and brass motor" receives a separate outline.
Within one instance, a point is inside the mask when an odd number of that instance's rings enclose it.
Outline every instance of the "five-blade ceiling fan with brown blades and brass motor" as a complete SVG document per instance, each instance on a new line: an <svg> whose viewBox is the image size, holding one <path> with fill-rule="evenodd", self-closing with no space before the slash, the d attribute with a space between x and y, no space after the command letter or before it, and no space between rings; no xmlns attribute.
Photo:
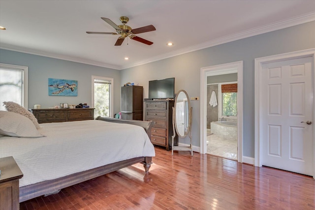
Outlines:
<svg viewBox="0 0 315 210"><path fill-rule="evenodd" d="M123 25L117 26L113 21L111 21L108 18L101 17L102 20L104 20L106 23L111 25L117 33L112 32L87 32L87 34L99 34L99 35L120 35L115 43L115 46L122 45L123 41L126 37L129 37L133 40L139 41L144 44L151 45L153 44L152 41L148 41L144 38L140 38L139 36L136 36L135 34L145 33L145 32L151 32L155 31L156 28L153 25L148 25L144 27L140 27L137 29L131 29L130 26L127 26L126 23L129 21L129 18L126 16L120 17L120 21L123 23Z"/></svg>

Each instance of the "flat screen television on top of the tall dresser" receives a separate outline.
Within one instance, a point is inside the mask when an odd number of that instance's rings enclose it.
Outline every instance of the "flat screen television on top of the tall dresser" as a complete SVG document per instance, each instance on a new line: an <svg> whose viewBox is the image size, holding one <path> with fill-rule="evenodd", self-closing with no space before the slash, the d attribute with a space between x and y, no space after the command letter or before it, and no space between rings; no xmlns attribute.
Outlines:
<svg viewBox="0 0 315 210"><path fill-rule="evenodd" d="M149 81L149 99L174 99L175 78Z"/></svg>

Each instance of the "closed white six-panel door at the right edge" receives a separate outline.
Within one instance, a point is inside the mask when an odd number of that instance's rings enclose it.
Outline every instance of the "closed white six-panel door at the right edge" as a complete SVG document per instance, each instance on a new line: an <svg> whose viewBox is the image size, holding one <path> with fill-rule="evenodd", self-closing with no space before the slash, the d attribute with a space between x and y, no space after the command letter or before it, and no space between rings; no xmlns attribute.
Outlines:
<svg viewBox="0 0 315 210"><path fill-rule="evenodd" d="M312 59L262 67L262 165L313 175Z"/></svg>

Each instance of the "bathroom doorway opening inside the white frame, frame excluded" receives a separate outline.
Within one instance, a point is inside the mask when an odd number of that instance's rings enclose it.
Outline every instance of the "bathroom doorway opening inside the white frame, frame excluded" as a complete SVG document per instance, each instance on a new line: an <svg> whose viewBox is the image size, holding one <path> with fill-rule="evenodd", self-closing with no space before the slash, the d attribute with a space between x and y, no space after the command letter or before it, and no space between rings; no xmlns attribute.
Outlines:
<svg viewBox="0 0 315 210"><path fill-rule="evenodd" d="M237 72L207 83L207 154L237 160Z"/></svg>

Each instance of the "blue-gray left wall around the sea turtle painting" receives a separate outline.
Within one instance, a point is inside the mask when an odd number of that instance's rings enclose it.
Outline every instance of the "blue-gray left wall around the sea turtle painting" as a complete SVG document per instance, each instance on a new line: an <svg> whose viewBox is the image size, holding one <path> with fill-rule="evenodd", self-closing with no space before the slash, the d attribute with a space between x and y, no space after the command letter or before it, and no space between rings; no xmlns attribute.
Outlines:
<svg viewBox="0 0 315 210"><path fill-rule="evenodd" d="M114 113L120 111L120 71L60 59L0 49L0 63L29 67L29 108L60 103L78 105L92 100L92 75L114 78ZM48 96L48 78L78 81L78 96Z"/></svg>

